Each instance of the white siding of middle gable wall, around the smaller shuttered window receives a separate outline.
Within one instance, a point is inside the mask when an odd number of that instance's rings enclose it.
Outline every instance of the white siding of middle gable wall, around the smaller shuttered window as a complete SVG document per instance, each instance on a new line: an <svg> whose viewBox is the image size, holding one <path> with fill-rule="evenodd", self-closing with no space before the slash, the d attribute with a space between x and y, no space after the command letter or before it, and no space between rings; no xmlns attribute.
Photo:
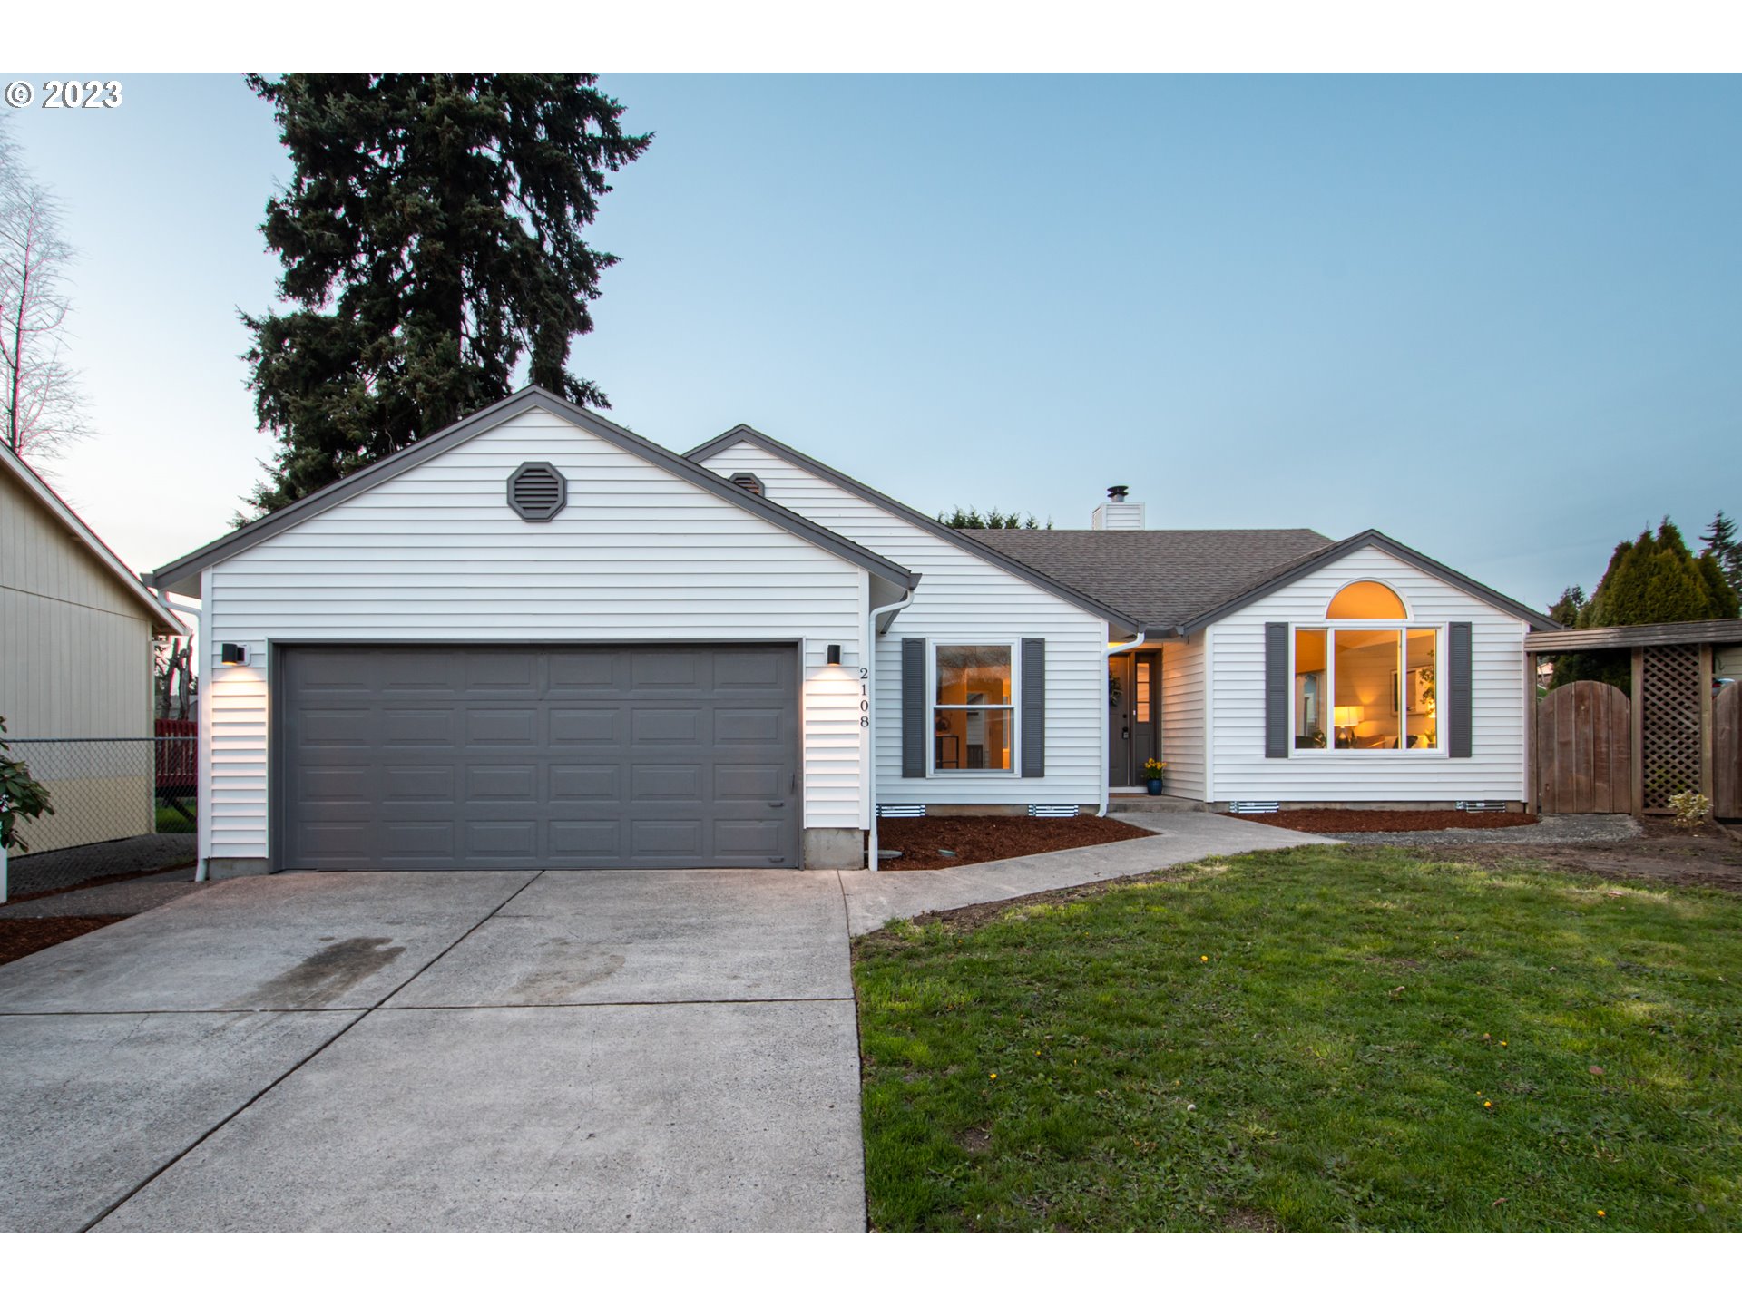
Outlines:
<svg viewBox="0 0 1742 1306"><path fill-rule="evenodd" d="M876 796L880 803L1101 803L1106 737L1106 622L1010 575L775 453L733 444L706 460L732 475L753 472L775 503L922 573L876 650ZM1047 641L1045 777L1012 771L901 775L901 641ZM1019 653L1019 650L1012 650ZM932 676L932 669L927 669ZM930 719L930 714L927 714ZM930 735L930 730L927 730ZM927 738L927 751L932 742Z"/></svg>

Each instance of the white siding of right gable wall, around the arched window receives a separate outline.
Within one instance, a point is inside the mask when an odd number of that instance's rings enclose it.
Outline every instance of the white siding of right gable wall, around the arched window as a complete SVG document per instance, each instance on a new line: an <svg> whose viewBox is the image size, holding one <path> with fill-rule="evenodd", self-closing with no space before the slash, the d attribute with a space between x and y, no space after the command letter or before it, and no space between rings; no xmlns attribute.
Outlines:
<svg viewBox="0 0 1742 1306"><path fill-rule="evenodd" d="M1336 625L1326 606L1352 580L1380 580L1409 608L1399 627L1469 622L1472 630L1470 757L1409 749L1300 752L1265 757L1265 622ZM1357 549L1212 627L1209 798L1216 803L1444 803L1526 798L1524 634L1528 625L1380 549ZM1441 641L1444 650L1444 637ZM1446 683L1446 676L1441 676ZM1291 695L1293 698L1293 695ZM1444 709L1442 709L1444 712ZM1441 721L1444 730L1444 716ZM1289 726L1293 738L1293 723Z"/></svg>

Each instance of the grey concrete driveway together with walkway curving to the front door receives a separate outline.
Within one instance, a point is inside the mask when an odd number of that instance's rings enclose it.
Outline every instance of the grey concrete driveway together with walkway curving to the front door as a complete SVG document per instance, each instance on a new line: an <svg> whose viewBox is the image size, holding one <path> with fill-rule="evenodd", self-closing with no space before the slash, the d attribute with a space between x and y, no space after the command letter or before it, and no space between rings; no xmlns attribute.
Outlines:
<svg viewBox="0 0 1742 1306"><path fill-rule="evenodd" d="M0 1229L864 1229L848 932L1322 843L230 879L0 968Z"/></svg>

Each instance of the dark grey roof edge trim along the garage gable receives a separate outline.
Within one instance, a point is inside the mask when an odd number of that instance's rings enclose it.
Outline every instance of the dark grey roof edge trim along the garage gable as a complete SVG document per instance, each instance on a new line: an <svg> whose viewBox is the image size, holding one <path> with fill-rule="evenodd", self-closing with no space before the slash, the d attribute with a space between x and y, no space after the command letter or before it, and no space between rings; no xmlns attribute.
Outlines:
<svg viewBox="0 0 1742 1306"><path fill-rule="evenodd" d="M206 568L223 562L228 557L235 557L263 540L270 540L272 536L291 529L298 522L319 515L345 500L355 498L362 491L371 489L383 481L390 481L401 472L409 472L413 467L427 463L430 458L463 444L474 435L481 435L493 427L500 427L503 421L517 418L535 407L564 418L608 444L615 444L618 449L645 458L681 481L700 486L702 489L726 500L733 507L744 508L746 512L791 531L801 540L814 543L819 549L852 562L854 566L864 568L873 576L881 576L883 580L902 589L913 589L920 582L918 573L909 571L897 562L890 562L881 554L874 554L843 535L836 535L824 526L817 526L817 522L808 517L801 517L791 508L784 508L772 500L753 495L747 489L740 489L725 477L714 475L706 467L697 467L686 458L679 458L671 449L662 449L652 441L636 435L627 427L606 421L598 413L580 407L578 404L571 404L566 399L535 385L530 385L524 390L516 390L507 399L502 399L469 418L462 418L444 430L425 435L422 441L416 441L399 453L388 454L378 463L371 463L364 470L347 475L343 481L334 481L331 486L317 489L314 495L300 498L289 507L270 512L247 526L230 531L230 535L225 535L219 540L213 540L204 549L195 549L192 554L185 554L174 562L160 566L157 571L148 573L145 582L148 585L174 589L179 594L199 594L199 575ZM186 587L186 580L190 576L195 580L192 589Z"/></svg>

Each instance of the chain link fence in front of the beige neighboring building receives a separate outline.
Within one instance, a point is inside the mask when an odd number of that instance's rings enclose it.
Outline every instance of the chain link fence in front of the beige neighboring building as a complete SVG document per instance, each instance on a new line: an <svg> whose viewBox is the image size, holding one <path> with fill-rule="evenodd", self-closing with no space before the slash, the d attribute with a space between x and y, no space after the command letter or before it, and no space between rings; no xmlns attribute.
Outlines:
<svg viewBox="0 0 1742 1306"><path fill-rule="evenodd" d="M193 834L199 740L192 735L7 744L54 806L54 815L19 825L30 855L145 834Z"/></svg>

